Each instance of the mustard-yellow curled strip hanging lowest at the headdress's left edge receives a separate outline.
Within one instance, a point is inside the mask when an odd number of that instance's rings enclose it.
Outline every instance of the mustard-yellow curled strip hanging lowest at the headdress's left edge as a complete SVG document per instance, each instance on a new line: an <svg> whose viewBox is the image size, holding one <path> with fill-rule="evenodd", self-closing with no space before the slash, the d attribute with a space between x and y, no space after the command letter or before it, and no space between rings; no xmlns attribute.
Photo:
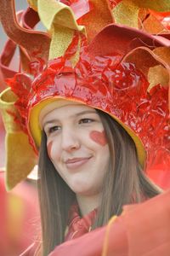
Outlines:
<svg viewBox="0 0 170 256"><path fill-rule="evenodd" d="M8 88L0 94L0 109L3 113L6 137L6 188L13 189L17 183L26 179L37 163L37 156L28 141L27 135L20 130L20 125L14 122L18 115L14 102L16 96ZM24 152L24 154L23 154Z"/></svg>

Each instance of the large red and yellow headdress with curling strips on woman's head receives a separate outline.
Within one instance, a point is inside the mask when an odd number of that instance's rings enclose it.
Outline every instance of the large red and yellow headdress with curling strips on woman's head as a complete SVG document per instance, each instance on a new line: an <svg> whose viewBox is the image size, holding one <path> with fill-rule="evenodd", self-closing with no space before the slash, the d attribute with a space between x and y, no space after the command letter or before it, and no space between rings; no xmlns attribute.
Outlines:
<svg viewBox="0 0 170 256"><path fill-rule="evenodd" d="M1 105L7 99L15 109L4 108L10 118L7 122L18 124L14 131L20 127L37 152L42 109L59 98L82 102L109 113L122 125L133 138L141 166L146 152L150 164L153 151L157 154L160 148L168 161L170 42L116 25L109 1L60 2L67 5L53 0L29 1L34 11L28 9L23 16L26 23L26 15L31 13L38 20L38 14L48 34L20 26L13 1L0 3L1 9L6 8L6 15L1 14L2 24L20 45L24 71L7 79L13 92L8 88L1 94ZM8 189L25 178L35 164L33 151L30 146L27 149L30 154L26 160L31 158L31 165L19 168L17 163L17 170L8 166L7 172L13 173L7 176Z"/></svg>

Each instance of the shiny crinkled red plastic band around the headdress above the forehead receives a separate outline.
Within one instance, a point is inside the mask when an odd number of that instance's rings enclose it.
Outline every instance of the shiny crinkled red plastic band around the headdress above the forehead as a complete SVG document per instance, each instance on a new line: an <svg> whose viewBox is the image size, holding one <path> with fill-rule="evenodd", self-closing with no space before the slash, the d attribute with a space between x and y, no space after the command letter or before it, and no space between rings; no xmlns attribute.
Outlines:
<svg viewBox="0 0 170 256"><path fill-rule="evenodd" d="M144 75L133 63L120 63L119 55L92 57L85 50L75 68L60 57L49 61L32 84L28 76L17 74L8 85L19 96L16 105L25 131L32 107L46 98L62 96L111 113L129 126L144 143L148 166L161 154L169 163L167 88L157 84L148 93Z"/></svg>

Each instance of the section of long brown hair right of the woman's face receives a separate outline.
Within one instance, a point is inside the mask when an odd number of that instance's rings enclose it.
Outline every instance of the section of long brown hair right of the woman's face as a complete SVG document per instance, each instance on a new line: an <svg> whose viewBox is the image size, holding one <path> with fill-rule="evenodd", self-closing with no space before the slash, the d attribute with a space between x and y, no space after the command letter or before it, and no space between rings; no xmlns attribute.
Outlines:
<svg viewBox="0 0 170 256"><path fill-rule="evenodd" d="M112 215L121 214L123 205L144 201L161 192L144 174L135 144L127 131L109 114L97 112L104 125L111 160L94 228L106 224Z"/></svg>

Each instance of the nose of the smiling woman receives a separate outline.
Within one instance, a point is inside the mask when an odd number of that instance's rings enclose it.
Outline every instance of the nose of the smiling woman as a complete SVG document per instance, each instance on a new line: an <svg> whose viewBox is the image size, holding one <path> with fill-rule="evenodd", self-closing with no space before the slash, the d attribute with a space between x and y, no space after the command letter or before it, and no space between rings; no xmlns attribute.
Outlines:
<svg viewBox="0 0 170 256"><path fill-rule="evenodd" d="M71 131L70 129L64 129L62 131L62 149L67 152L71 152L75 149L80 148L80 140L78 138L76 131Z"/></svg>

